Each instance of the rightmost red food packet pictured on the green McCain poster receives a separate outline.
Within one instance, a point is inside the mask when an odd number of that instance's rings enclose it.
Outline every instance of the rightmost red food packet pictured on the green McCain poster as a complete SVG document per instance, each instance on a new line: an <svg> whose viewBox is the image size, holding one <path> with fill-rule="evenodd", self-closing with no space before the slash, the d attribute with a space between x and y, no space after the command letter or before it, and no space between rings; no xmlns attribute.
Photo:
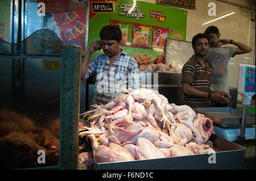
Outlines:
<svg viewBox="0 0 256 181"><path fill-rule="evenodd" d="M151 49L164 51L166 39L168 38L169 28L152 26L152 45Z"/></svg>

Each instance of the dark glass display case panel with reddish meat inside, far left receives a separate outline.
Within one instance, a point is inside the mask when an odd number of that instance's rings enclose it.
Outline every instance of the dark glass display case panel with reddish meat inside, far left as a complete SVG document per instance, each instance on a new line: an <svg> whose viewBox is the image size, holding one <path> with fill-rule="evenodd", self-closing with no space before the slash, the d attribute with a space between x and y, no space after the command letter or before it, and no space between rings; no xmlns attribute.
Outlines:
<svg viewBox="0 0 256 181"><path fill-rule="evenodd" d="M0 169L59 165L62 48L48 30L0 41Z"/></svg>

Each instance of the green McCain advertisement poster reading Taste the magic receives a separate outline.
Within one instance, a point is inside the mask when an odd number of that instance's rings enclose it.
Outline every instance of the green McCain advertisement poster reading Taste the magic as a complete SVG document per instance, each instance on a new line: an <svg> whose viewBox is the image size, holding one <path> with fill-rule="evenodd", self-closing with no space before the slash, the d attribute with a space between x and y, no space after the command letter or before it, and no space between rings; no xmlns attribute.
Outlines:
<svg viewBox="0 0 256 181"><path fill-rule="evenodd" d="M132 0L90 1L88 48L100 40L100 30L118 24L122 31L121 48L138 65L165 63L166 38L186 40L187 11L170 6ZM93 53L91 60L103 53Z"/></svg>

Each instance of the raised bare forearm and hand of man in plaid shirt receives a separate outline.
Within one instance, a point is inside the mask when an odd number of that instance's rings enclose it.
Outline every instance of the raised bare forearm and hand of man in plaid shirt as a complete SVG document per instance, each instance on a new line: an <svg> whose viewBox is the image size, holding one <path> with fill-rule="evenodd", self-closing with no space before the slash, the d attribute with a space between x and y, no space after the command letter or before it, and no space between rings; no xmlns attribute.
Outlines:
<svg viewBox="0 0 256 181"><path fill-rule="evenodd" d="M84 58L82 58L82 64L81 64L81 80L84 79L87 71L88 71L88 63L90 59L90 55L98 50L98 47L100 46L100 41L94 41L90 48L85 53Z"/></svg>

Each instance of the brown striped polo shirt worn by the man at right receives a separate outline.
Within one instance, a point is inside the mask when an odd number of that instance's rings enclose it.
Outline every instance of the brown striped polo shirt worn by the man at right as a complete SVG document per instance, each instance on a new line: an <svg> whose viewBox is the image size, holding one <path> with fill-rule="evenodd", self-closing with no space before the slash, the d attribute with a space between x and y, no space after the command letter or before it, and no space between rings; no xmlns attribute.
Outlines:
<svg viewBox="0 0 256 181"><path fill-rule="evenodd" d="M185 63L182 68L182 79L181 82L191 83L191 87L203 91L210 91L210 73L212 69L205 60L205 68L201 65L200 61L193 55ZM210 99L193 98L187 95L184 96L184 103L189 104L210 104ZM204 106L205 107L205 106Z"/></svg>

